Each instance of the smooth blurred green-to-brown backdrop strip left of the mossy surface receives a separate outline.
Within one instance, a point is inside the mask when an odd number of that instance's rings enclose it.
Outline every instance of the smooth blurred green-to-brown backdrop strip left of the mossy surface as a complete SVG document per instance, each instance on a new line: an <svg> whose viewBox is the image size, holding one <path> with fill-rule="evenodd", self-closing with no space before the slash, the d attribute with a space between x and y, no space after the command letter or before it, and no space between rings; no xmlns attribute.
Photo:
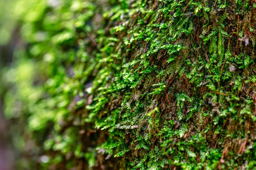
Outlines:
<svg viewBox="0 0 256 170"><path fill-rule="evenodd" d="M15 8L16 0L0 0L0 73L12 64L15 47L20 43L18 15L22 9ZM16 11L16 12L15 12ZM15 30L16 29L16 30ZM4 97L6 91L0 74L0 170L14 170L15 159L20 153L15 149L11 136L11 120L4 114Z"/></svg>

